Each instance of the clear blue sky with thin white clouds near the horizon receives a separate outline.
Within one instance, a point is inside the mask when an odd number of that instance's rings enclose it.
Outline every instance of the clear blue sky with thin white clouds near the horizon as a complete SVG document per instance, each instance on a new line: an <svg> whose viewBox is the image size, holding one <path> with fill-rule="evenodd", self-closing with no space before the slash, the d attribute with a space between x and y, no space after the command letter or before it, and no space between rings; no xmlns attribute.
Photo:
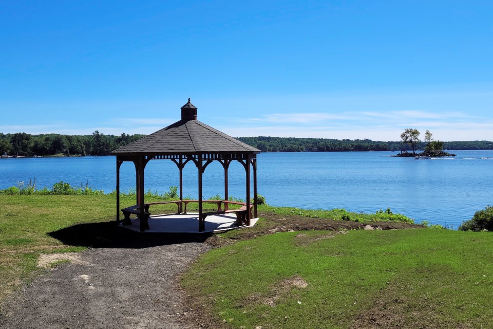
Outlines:
<svg viewBox="0 0 493 329"><path fill-rule="evenodd" d="M493 140L491 1L3 1L0 132Z"/></svg>

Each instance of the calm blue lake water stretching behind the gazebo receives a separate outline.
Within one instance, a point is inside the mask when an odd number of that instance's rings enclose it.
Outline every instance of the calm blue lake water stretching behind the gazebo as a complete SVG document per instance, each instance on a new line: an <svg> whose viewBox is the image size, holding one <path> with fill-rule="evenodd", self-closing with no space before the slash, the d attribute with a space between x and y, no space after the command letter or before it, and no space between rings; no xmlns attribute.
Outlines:
<svg viewBox="0 0 493 329"><path fill-rule="evenodd" d="M452 151L456 158L415 160L393 158L391 152L262 153L257 157L258 193L273 206L306 209L345 208L372 213L387 209L454 229L475 211L493 205L493 151ZM116 184L115 157L0 159L0 189L36 179L36 187L51 188L63 180L72 186L86 182L111 192ZM183 195L196 198L197 169L189 163L183 174ZM135 188L135 169L121 168L121 190ZM204 197L221 194L219 163L203 176ZM232 162L230 195L245 198L244 169ZM146 167L146 190L166 192L178 186L178 169L169 160ZM253 192L252 192L253 194Z"/></svg>

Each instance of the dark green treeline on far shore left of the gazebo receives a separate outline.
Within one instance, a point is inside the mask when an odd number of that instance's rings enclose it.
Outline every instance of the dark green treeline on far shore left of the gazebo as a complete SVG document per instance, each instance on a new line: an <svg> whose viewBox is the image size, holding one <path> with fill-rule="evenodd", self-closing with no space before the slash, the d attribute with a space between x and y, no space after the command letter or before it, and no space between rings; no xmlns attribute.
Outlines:
<svg viewBox="0 0 493 329"><path fill-rule="evenodd" d="M0 133L0 155L107 155L145 135L30 135L26 133Z"/></svg>

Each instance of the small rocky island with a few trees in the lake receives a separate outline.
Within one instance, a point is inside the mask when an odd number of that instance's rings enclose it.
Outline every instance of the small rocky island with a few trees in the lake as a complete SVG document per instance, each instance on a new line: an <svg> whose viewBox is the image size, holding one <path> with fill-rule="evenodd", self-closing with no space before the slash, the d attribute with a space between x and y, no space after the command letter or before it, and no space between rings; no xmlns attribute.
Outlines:
<svg viewBox="0 0 493 329"><path fill-rule="evenodd" d="M401 134L401 140L404 144L410 144L412 153L402 152L401 154L394 155L394 157L415 157L415 158L437 158L437 157L452 157L456 156L453 153L447 153L443 151L444 142L440 140L433 140L433 135L429 130L425 133L426 148L424 152L416 154L416 144L420 142L420 132L417 129L408 128Z"/></svg>

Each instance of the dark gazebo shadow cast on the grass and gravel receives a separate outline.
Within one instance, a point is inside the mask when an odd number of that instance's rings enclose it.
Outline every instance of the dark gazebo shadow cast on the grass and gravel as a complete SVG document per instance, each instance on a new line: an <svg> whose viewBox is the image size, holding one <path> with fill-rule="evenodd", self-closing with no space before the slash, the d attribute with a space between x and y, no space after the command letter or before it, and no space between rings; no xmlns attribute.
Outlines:
<svg viewBox="0 0 493 329"><path fill-rule="evenodd" d="M148 248L177 243L205 242L213 233L153 233L119 227L114 221L76 224L48 235L69 246L90 248Z"/></svg>

